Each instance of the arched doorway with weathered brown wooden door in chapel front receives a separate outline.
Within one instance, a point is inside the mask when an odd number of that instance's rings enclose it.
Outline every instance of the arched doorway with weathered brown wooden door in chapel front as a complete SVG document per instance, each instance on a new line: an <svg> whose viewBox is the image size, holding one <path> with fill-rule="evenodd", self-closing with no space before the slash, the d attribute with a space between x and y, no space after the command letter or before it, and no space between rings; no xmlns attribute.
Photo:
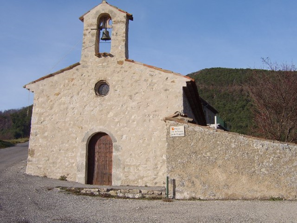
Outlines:
<svg viewBox="0 0 297 223"><path fill-rule="evenodd" d="M88 145L87 184L112 185L113 143L110 136L99 132Z"/></svg>

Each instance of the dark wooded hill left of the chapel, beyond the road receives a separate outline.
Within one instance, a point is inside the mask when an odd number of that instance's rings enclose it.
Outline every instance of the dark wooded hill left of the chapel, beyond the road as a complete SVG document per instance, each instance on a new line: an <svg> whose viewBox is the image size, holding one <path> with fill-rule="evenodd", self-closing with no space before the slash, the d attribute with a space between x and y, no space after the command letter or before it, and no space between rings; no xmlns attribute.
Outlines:
<svg viewBox="0 0 297 223"><path fill-rule="evenodd" d="M0 139L29 138L32 107L0 111Z"/></svg>

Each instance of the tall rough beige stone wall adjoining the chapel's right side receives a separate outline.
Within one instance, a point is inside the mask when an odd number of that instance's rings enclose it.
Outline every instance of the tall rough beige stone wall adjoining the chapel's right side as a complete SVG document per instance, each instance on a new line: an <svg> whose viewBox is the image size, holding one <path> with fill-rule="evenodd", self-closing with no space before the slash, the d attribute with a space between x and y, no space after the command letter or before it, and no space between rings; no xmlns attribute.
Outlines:
<svg viewBox="0 0 297 223"><path fill-rule="evenodd" d="M167 170L177 199L297 199L297 145L167 121ZM185 126L170 137L170 126Z"/></svg>

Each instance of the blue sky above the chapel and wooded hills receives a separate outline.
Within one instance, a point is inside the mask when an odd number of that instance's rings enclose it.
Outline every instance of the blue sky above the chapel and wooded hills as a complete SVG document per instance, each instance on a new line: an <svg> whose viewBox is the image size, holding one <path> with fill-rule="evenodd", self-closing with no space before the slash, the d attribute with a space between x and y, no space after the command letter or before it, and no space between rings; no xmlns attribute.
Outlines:
<svg viewBox="0 0 297 223"><path fill-rule="evenodd" d="M110 0L133 14L129 59L183 75L297 61L296 0ZM83 23L101 0L0 0L0 110L33 102L23 86L80 61ZM264 67L265 68L265 67Z"/></svg>

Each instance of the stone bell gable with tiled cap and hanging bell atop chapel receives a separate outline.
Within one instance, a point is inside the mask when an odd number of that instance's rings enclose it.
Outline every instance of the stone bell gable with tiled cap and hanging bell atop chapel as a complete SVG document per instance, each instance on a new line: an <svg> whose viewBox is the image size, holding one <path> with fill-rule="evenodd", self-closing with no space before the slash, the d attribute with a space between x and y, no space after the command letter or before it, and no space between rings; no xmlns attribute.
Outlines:
<svg viewBox="0 0 297 223"><path fill-rule="evenodd" d="M80 17L84 23L81 64L128 59L128 26L133 17L102 1ZM107 50L106 50L107 49Z"/></svg>

